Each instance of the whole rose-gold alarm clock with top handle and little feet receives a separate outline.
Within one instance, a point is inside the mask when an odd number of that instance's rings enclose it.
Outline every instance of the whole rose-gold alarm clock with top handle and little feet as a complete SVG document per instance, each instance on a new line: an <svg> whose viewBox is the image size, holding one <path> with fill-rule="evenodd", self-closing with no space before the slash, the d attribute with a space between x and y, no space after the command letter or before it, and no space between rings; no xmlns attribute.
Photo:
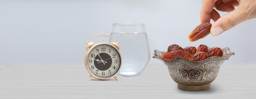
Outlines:
<svg viewBox="0 0 256 99"><path fill-rule="evenodd" d="M95 37L110 37L112 43L93 43ZM116 80L117 73L121 69L122 58L119 52L119 42L115 43L109 35L96 35L92 37L91 42L86 41L85 68L92 77L99 80L108 80L114 77Z"/></svg>

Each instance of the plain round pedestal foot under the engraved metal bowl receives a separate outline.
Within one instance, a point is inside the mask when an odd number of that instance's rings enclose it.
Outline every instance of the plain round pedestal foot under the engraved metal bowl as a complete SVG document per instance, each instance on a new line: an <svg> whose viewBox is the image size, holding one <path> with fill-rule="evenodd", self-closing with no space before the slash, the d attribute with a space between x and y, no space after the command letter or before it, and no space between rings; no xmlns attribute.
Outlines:
<svg viewBox="0 0 256 99"><path fill-rule="evenodd" d="M209 89L210 87L211 87L211 83L206 85L201 85L201 86L186 86L186 85L178 84L179 89L188 90L188 91L206 90L206 89Z"/></svg>

